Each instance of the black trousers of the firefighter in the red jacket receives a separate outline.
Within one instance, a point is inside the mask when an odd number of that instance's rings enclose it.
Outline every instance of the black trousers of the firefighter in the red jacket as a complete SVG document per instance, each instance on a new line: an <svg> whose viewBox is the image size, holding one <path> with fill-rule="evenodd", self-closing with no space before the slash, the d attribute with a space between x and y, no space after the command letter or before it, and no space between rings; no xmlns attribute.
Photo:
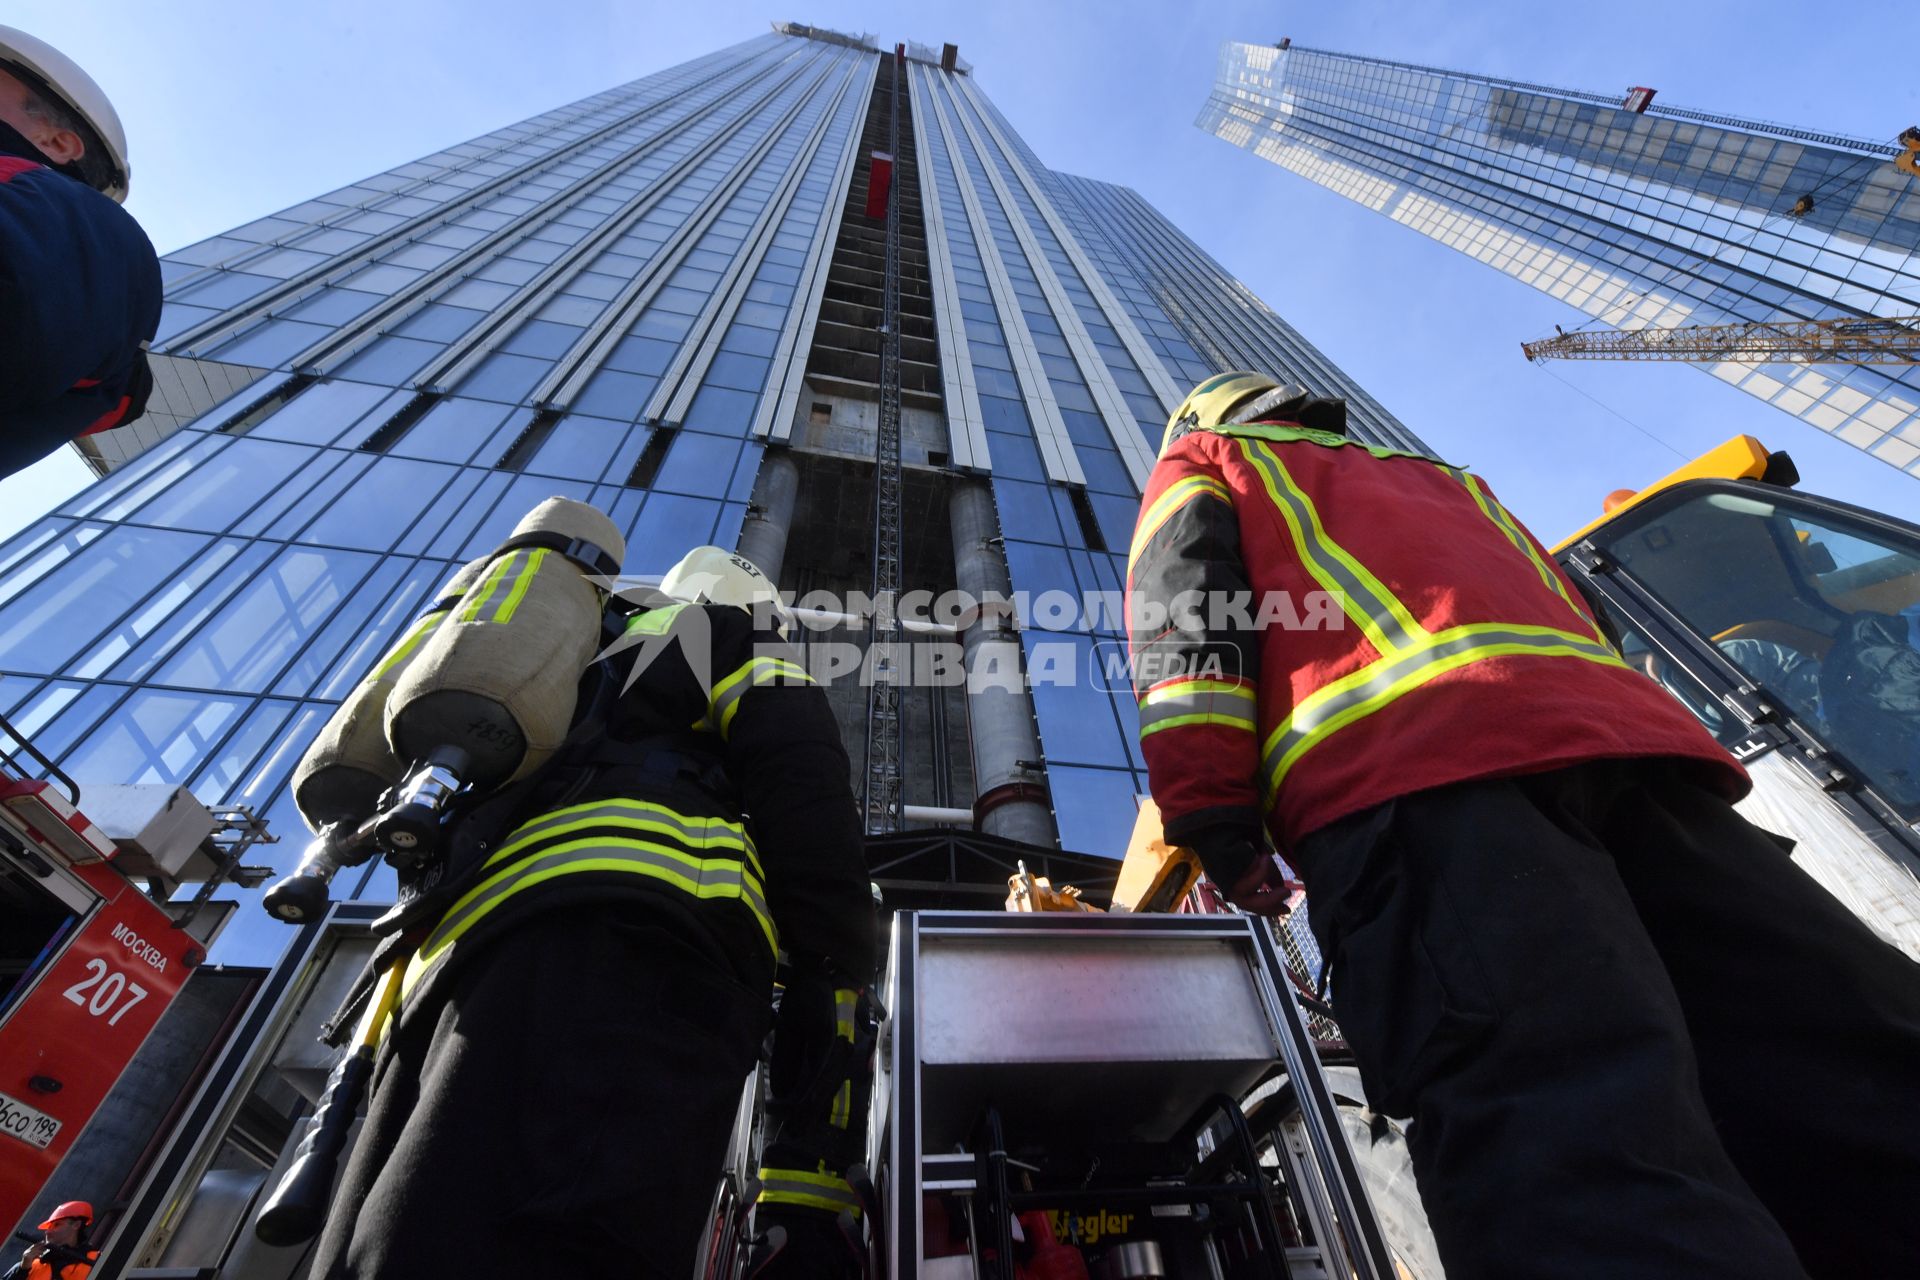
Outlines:
<svg viewBox="0 0 1920 1280"><path fill-rule="evenodd" d="M1294 864L1450 1278L1920 1274L1920 965L1682 766L1417 793Z"/></svg>

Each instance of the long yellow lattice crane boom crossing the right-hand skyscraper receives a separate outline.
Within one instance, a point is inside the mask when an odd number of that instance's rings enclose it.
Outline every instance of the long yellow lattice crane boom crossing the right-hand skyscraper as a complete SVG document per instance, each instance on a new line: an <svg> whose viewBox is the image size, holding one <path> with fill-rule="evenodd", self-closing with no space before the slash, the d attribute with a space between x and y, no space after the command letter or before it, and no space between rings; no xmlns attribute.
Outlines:
<svg viewBox="0 0 1920 1280"><path fill-rule="evenodd" d="M1920 315L1596 328L1523 342L1530 361L1793 361L1920 365Z"/></svg>

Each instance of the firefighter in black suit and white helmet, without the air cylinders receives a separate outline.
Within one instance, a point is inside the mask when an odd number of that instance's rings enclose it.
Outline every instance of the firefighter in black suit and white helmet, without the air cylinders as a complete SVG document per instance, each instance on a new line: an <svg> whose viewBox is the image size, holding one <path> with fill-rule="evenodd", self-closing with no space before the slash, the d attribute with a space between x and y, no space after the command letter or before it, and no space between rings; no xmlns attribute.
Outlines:
<svg viewBox="0 0 1920 1280"><path fill-rule="evenodd" d="M856 1272L874 906L839 725L753 562L630 595L553 760L401 875L417 950L313 1276L693 1274L770 1017L753 1274Z"/></svg>

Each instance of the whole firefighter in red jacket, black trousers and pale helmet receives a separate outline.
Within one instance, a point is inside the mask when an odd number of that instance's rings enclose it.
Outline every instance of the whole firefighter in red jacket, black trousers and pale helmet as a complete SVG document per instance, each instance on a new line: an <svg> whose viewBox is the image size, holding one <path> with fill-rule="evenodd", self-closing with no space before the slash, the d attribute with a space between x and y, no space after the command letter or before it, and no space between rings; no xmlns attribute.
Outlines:
<svg viewBox="0 0 1920 1280"><path fill-rule="evenodd" d="M1745 771L1486 482L1231 372L1129 557L1167 839L1308 887L1450 1274L1920 1274L1920 967L1734 810ZM1738 572L1738 566L1728 566Z"/></svg>

